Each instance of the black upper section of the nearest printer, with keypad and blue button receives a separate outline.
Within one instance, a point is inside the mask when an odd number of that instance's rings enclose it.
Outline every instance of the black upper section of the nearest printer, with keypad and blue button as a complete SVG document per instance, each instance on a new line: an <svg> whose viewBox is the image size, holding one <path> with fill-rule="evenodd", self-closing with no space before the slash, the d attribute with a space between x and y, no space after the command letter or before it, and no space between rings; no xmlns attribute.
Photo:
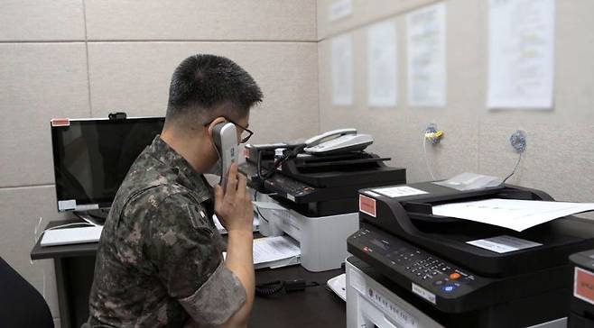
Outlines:
<svg viewBox="0 0 594 328"><path fill-rule="evenodd" d="M434 215L432 205L552 197L507 185L470 191L432 182L406 186L422 193L390 197L370 188L359 191L360 229L348 238L348 252L367 263L367 271L387 278L447 327L525 327L568 316L568 257L593 248L594 223L566 216L515 232ZM499 236L535 246L499 253L468 243Z"/></svg>

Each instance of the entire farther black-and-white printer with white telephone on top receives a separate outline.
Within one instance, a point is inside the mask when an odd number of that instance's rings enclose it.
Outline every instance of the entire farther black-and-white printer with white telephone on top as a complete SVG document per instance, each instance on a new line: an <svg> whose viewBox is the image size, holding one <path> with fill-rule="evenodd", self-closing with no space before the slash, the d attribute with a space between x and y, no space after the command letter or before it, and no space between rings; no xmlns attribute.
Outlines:
<svg viewBox="0 0 594 328"><path fill-rule="evenodd" d="M365 151L372 142L342 129L302 143L246 145L239 170L255 189L260 232L298 241L305 269L339 269L348 256L345 241L358 229L358 189L406 182L405 169Z"/></svg>

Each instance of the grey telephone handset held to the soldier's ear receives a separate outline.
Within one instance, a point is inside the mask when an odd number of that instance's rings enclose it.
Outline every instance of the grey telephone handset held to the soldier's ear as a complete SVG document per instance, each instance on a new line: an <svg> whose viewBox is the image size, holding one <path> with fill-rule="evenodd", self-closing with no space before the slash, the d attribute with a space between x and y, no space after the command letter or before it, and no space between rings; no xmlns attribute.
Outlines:
<svg viewBox="0 0 594 328"><path fill-rule="evenodd" d="M220 186L223 191L227 187L227 177L231 164L237 163L239 147L237 145L237 129L234 123L218 123L212 129L213 140L221 160Z"/></svg>

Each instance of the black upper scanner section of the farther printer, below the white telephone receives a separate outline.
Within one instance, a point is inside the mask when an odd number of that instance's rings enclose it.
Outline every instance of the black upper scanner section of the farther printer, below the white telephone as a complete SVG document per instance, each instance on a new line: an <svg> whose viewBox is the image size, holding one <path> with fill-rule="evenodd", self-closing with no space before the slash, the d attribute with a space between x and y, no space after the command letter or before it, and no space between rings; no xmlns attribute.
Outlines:
<svg viewBox="0 0 594 328"><path fill-rule="evenodd" d="M302 151L303 147L246 145L246 162L239 171L246 175L249 187L306 216L355 213L358 189L406 182L406 169L385 165L390 158L364 150L317 156ZM274 167L274 152L279 148L295 154Z"/></svg>

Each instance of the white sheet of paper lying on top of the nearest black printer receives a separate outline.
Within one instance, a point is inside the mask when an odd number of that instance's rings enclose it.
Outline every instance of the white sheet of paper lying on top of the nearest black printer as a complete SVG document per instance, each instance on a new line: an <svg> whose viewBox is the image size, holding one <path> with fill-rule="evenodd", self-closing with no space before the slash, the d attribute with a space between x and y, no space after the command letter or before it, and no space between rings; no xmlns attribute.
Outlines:
<svg viewBox="0 0 594 328"><path fill-rule="evenodd" d="M566 215L589 211L594 211L594 203L500 198L433 206L435 215L493 224L516 232L522 232Z"/></svg>

